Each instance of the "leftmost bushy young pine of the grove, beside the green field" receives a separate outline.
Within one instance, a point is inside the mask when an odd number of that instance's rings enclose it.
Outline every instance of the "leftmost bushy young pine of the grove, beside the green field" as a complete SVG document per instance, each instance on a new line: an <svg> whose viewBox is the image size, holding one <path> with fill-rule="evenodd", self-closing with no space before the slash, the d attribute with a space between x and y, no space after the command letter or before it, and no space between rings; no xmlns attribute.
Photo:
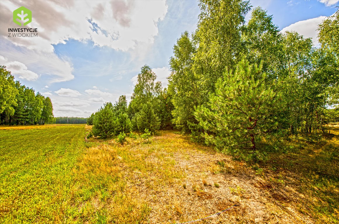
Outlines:
<svg viewBox="0 0 339 224"><path fill-rule="evenodd" d="M115 134L117 123L113 114L113 105L111 102L104 104L104 107L95 113L93 119L93 135L107 138Z"/></svg>

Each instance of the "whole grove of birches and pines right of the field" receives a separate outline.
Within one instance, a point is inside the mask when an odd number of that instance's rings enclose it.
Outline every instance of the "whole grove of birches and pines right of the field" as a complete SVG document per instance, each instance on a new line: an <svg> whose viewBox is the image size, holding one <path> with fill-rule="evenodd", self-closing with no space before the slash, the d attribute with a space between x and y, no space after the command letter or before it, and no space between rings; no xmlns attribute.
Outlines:
<svg viewBox="0 0 339 224"><path fill-rule="evenodd" d="M324 133L327 122L338 120L338 10L319 25L315 47L296 32L281 33L261 7L245 22L248 1L199 6L198 28L173 47L168 88L143 66L129 105L125 96L104 104L87 120L91 135L175 126L196 141L256 159L272 136Z"/></svg>

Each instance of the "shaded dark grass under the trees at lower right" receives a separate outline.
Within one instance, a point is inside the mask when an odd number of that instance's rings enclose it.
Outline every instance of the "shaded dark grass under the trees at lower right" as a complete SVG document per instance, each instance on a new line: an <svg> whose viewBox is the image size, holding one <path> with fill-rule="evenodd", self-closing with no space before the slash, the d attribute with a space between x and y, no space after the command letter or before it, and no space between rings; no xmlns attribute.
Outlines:
<svg viewBox="0 0 339 224"><path fill-rule="evenodd" d="M301 213L313 217L315 223L339 223L339 125L327 128L333 134L285 141L289 150L270 154L262 168L256 167L256 175L263 175L274 186L274 193L283 192L283 200L291 201ZM304 197L296 198L292 190L286 190L287 186ZM279 195L276 198L281 199Z"/></svg>

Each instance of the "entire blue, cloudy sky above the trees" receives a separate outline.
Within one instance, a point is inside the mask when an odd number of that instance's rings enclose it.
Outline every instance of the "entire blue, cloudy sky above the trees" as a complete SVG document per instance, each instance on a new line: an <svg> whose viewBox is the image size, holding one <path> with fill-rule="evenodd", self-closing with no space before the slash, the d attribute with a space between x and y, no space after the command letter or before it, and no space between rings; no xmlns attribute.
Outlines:
<svg viewBox="0 0 339 224"><path fill-rule="evenodd" d="M339 0L251 0L281 32L295 30L319 47L317 27ZM145 64L167 86L173 45L197 28L198 1L0 1L0 65L53 103L55 117L88 117L105 102L129 101ZM32 22L19 26L24 6ZM246 21L250 18L246 16ZM8 37L8 28L37 28L37 37Z"/></svg>

